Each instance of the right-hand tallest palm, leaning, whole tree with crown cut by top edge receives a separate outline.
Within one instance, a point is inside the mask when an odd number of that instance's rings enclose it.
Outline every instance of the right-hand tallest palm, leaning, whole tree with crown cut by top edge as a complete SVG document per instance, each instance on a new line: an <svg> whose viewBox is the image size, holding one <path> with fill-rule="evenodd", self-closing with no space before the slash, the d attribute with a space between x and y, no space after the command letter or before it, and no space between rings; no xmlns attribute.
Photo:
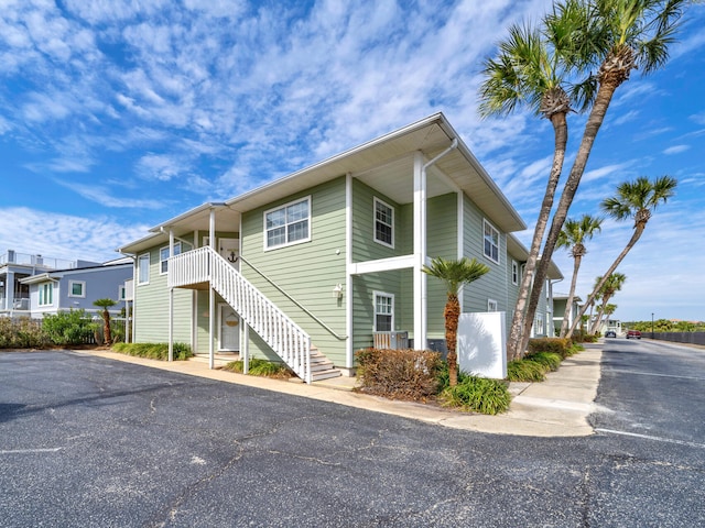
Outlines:
<svg viewBox="0 0 705 528"><path fill-rule="evenodd" d="M525 315L529 324L523 329L520 352L523 352L529 343L531 321L541 299L541 287L546 279L558 234L612 96L629 79L632 69L639 69L647 75L666 64L669 45L675 41L683 11L691 0L565 0L564 3L577 3L582 8L574 9L575 15L584 16L584 21L571 35L570 42L573 47L570 57L576 67L597 67L593 77L594 85L583 85L588 94L594 89L596 92L573 167L565 182L541 252L541 260L536 265L534 287Z"/></svg>

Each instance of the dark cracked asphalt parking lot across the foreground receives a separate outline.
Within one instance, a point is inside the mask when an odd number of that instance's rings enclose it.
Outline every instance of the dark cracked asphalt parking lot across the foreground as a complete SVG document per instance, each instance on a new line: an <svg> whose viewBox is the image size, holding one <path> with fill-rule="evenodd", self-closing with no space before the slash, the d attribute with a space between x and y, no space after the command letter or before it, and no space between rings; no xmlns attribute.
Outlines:
<svg viewBox="0 0 705 528"><path fill-rule="evenodd" d="M0 353L3 527L703 526L705 446L691 443L490 435L74 352Z"/></svg>

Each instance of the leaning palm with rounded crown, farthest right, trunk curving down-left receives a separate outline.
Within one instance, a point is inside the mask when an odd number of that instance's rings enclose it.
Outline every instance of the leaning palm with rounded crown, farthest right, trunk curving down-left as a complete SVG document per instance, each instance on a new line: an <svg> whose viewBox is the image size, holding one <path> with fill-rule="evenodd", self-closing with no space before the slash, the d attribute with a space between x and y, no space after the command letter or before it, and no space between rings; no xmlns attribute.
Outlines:
<svg viewBox="0 0 705 528"><path fill-rule="evenodd" d="M605 283L617 266L625 260L627 253L631 251L634 244L641 238L643 230L647 228L647 222L651 218L652 211L663 202L665 204L669 198L674 194L674 189L677 185L677 180L671 176L661 176L654 182L649 180L648 177L641 176L634 182L625 182L617 187L617 196L603 200L600 207L610 217L617 220L634 220L634 232L629 239L629 242L617 256L609 270L603 275ZM590 294L588 301L595 299L603 287L603 284L596 285L595 289ZM583 312L584 314L584 312ZM575 331L575 323L568 330L566 337L571 337Z"/></svg>

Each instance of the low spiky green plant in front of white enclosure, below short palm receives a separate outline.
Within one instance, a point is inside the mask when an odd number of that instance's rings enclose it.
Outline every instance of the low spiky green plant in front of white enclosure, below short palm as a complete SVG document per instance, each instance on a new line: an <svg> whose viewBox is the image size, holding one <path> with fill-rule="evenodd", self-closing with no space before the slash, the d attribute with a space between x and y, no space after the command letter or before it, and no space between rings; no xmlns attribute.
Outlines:
<svg viewBox="0 0 705 528"><path fill-rule="evenodd" d="M509 409L511 396L501 381L466 375L456 386L446 387L440 400L444 407L497 415Z"/></svg>

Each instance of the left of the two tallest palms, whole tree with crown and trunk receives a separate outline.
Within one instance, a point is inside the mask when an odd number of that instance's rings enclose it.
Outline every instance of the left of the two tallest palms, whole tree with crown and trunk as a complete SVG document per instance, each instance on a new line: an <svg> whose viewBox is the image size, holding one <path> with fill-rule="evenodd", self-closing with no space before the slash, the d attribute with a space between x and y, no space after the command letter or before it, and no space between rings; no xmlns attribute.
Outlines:
<svg viewBox="0 0 705 528"><path fill-rule="evenodd" d="M519 286L509 343L519 342L522 336L533 271L565 161L566 117L573 111L572 95L589 94L588 89L581 87L581 81L573 82L574 69L568 57L568 50L573 50L571 35L583 20L574 14L576 6L571 0L556 7L553 15L544 18L541 30L529 25L510 26L509 36L499 43L497 57L486 61L482 70L480 116L506 116L519 107L527 107L551 121L554 135L553 163ZM517 358L516 351L517 346L508 346L510 360Z"/></svg>

